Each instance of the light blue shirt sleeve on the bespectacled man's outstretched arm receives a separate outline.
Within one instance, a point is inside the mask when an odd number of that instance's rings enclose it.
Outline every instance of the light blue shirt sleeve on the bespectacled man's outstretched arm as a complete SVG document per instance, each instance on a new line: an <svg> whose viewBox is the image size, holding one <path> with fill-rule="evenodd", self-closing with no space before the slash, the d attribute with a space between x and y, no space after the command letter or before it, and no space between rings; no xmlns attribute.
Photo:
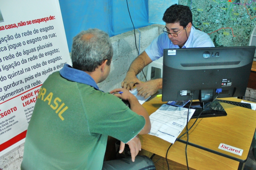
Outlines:
<svg viewBox="0 0 256 170"><path fill-rule="evenodd" d="M156 37L156 39L151 42L148 48L145 49L145 52L152 61L155 61L163 56L164 44L167 43L164 42L164 35L164 33L160 34L158 37Z"/></svg>

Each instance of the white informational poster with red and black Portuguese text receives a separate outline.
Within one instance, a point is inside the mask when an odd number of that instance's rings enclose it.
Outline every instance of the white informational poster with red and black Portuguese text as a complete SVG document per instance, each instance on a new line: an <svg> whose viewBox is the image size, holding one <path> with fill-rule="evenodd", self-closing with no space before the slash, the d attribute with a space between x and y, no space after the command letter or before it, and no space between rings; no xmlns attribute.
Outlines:
<svg viewBox="0 0 256 170"><path fill-rule="evenodd" d="M58 0L0 1L0 156L24 143L42 83L65 63Z"/></svg>

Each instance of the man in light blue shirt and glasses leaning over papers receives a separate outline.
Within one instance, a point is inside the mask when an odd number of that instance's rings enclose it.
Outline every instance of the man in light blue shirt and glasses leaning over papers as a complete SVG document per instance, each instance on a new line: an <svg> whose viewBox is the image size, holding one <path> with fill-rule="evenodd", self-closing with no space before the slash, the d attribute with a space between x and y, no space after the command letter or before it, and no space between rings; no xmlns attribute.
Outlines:
<svg viewBox="0 0 256 170"><path fill-rule="evenodd" d="M131 64L121 86L133 89L136 85L138 95L145 99L162 89L162 78L142 83L136 75L152 61L163 56L166 48L214 47L208 34L192 26L192 12L188 6L174 4L163 16L165 28L152 43ZM150 73L149 73L150 74Z"/></svg>

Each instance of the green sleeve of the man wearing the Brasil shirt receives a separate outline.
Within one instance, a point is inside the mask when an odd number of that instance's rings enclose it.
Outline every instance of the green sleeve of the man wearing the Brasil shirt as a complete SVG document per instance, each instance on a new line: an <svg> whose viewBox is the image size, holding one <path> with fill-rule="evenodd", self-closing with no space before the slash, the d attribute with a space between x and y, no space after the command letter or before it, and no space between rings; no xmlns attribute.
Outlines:
<svg viewBox="0 0 256 170"><path fill-rule="evenodd" d="M97 91L98 107L86 114L91 135L103 134L127 143L145 126L145 119L133 112L118 97Z"/></svg>

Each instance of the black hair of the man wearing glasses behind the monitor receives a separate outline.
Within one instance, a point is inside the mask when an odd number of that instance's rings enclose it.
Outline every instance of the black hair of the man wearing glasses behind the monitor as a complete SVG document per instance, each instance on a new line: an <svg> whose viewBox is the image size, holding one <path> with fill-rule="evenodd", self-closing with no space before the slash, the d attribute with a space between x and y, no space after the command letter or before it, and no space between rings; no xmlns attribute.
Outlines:
<svg viewBox="0 0 256 170"><path fill-rule="evenodd" d="M167 24L179 22L185 28L192 24L192 12L188 6L174 4L164 12L163 20Z"/></svg>

